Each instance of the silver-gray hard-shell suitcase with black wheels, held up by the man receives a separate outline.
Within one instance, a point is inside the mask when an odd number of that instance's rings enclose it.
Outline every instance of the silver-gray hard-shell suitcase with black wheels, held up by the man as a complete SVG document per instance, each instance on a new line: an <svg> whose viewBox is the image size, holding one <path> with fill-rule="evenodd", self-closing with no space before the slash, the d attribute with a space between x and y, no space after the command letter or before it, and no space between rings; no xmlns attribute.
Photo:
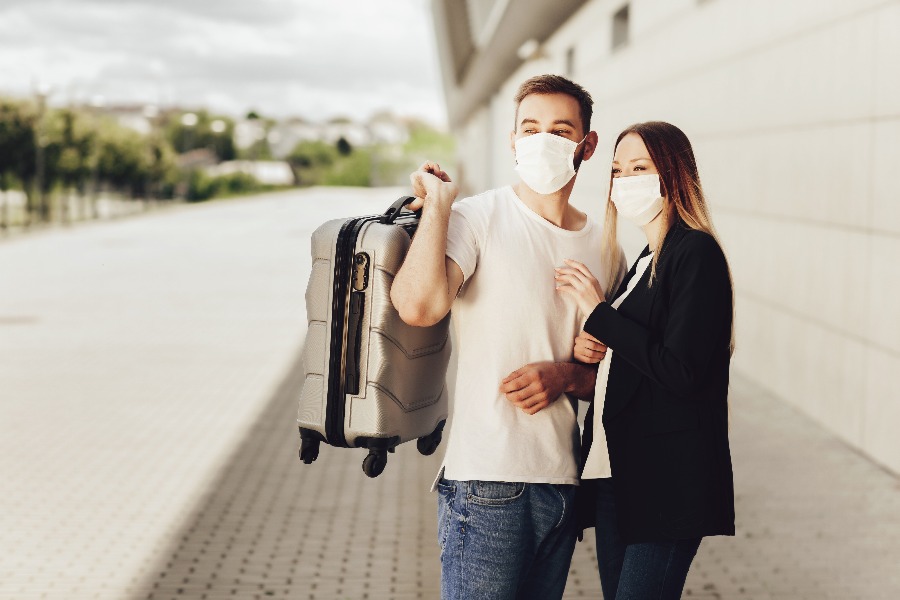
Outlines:
<svg viewBox="0 0 900 600"><path fill-rule="evenodd" d="M397 445L417 439L427 455L440 444L450 316L412 327L390 299L419 222L403 209L412 200L400 198L383 215L328 221L312 235L306 377L297 412L306 464L323 442L365 448L363 471L376 477Z"/></svg>

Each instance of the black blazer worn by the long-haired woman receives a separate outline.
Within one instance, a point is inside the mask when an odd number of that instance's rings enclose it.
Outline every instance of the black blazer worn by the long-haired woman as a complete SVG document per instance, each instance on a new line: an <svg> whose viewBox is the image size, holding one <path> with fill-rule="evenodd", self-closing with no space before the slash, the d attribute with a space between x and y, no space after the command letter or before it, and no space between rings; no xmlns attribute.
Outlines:
<svg viewBox="0 0 900 600"><path fill-rule="evenodd" d="M725 256L712 236L677 223L663 242L651 287L649 280L650 268L618 310L603 302L584 326L613 349L602 422L619 533L625 543L734 535L732 291ZM593 439L593 408L582 460ZM581 523L591 526L592 488L584 483Z"/></svg>

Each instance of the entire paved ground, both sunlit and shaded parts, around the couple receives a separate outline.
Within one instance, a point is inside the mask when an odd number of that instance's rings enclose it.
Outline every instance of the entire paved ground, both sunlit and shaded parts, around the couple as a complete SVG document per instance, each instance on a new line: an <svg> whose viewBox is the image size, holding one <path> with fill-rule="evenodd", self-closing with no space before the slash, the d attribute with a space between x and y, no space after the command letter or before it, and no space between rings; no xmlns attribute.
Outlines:
<svg viewBox="0 0 900 600"><path fill-rule="evenodd" d="M296 457L309 233L393 195L0 243L0 598L438 597L438 457ZM900 479L740 376L731 403L738 535L685 597L900 598ZM592 537L567 598L600 597Z"/></svg>

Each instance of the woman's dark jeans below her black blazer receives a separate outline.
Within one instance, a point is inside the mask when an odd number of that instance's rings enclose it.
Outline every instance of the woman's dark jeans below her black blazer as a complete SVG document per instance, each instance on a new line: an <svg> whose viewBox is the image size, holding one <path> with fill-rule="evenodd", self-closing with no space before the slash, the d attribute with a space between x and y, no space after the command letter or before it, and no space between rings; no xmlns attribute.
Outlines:
<svg viewBox="0 0 900 600"><path fill-rule="evenodd" d="M597 567L605 600L681 598L701 538L625 544L616 524L612 479L597 480Z"/></svg>

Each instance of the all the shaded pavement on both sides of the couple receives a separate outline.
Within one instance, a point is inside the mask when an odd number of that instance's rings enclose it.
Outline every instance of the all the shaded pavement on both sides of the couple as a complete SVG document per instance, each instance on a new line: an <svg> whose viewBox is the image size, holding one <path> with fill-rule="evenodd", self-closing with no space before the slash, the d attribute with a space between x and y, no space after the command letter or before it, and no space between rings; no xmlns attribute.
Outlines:
<svg viewBox="0 0 900 600"><path fill-rule="evenodd" d="M282 426L298 373L135 598L439 597L425 491L438 461L407 445L375 480L363 451L323 448L300 464ZM732 401L738 535L704 541L685 597L900 598L900 481L746 379ZM576 548L566 598L600 598L594 548L592 535Z"/></svg>

